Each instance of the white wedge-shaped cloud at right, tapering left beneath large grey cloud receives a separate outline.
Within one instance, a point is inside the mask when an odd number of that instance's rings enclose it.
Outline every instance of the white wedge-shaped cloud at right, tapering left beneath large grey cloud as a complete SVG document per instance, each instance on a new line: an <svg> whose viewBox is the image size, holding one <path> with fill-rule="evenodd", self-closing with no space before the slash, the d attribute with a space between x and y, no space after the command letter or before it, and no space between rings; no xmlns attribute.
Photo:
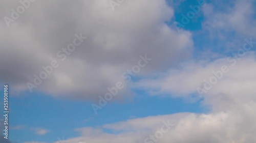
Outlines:
<svg viewBox="0 0 256 143"><path fill-rule="evenodd" d="M254 52L247 52L238 59L226 57L211 62L191 61L185 63L180 70L170 70L167 75L164 74L158 79L136 82L135 87L145 89L151 95L168 93L174 97L188 97L202 93L205 98L223 95L240 101L250 101L255 99L253 95L256 94L256 78L253 76L256 72L255 66ZM220 73L224 67L225 72ZM207 82L212 88L204 87ZM200 92L198 88L205 88L206 92Z"/></svg>

